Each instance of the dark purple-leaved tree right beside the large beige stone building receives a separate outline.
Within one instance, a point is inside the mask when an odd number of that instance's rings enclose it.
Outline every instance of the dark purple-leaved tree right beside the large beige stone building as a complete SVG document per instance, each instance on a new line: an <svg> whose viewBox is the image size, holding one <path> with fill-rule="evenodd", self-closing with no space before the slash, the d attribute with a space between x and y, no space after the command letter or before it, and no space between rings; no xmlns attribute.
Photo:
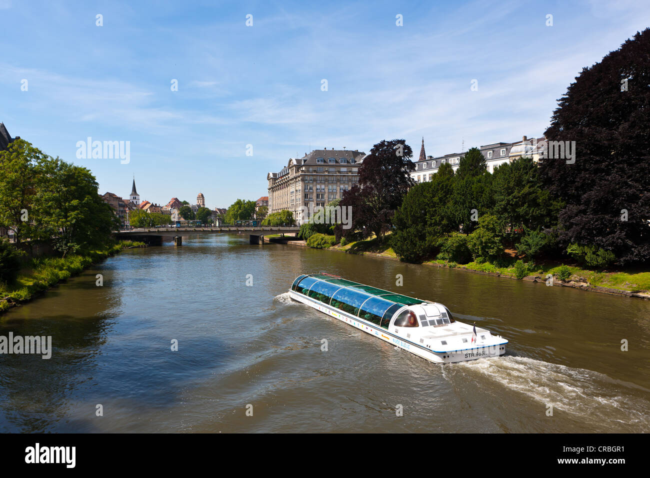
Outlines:
<svg viewBox="0 0 650 478"><path fill-rule="evenodd" d="M372 146L359 166L359 185L343 193L340 206L352 206L352 228L364 238L374 234L379 239L391 229L395 210L415 181L413 151L403 139L382 140ZM335 228L338 237L346 233Z"/></svg>

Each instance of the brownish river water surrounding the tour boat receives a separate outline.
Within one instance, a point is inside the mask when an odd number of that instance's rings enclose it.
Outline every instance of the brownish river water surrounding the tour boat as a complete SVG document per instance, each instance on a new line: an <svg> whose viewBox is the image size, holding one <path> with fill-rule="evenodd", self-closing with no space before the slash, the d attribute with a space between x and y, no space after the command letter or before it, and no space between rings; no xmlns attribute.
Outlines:
<svg viewBox="0 0 650 478"><path fill-rule="evenodd" d="M320 271L442 302L506 356L432 364L288 298ZM248 236L126 250L9 332L53 352L0 355L2 432L650 431L650 301Z"/></svg>

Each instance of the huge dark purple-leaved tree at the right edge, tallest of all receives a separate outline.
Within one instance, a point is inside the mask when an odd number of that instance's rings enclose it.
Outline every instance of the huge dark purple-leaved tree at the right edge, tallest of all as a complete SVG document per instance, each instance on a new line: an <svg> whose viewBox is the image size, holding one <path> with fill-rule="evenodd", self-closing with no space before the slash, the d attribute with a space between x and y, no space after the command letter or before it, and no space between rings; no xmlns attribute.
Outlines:
<svg viewBox="0 0 650 478"><path fill-rule="evenodd" d="M650 261L650 29L584 68L545 134L575 141L575 163L540 166L566 203L560 239L610 250L622 264Z"/></svg>

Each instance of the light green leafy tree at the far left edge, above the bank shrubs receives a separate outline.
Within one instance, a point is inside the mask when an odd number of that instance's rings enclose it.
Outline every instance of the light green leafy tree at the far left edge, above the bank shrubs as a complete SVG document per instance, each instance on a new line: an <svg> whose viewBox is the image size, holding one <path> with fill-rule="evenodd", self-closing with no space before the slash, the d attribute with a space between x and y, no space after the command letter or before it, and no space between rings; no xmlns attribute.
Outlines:
<svg viewBox="0 0 650 478"><path fill-rule="evenodd" d="M32 204L38 175L35 166L46 158L45 153L24 139L17 139L0 151L0 227L13 231L16 243L33 235Z"/></svg>

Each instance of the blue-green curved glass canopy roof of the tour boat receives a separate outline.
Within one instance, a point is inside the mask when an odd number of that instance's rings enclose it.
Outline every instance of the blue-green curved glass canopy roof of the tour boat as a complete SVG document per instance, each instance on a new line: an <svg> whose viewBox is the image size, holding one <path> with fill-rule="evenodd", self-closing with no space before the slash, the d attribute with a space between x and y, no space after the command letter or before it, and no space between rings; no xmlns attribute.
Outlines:
<svg viewBox="0 0 650 478"><path fill-rule="evenodd" d="M329 274L302 274L293 281L291 290L383 328L388 328L395 312L404 306L434 303Z"/></svg>

